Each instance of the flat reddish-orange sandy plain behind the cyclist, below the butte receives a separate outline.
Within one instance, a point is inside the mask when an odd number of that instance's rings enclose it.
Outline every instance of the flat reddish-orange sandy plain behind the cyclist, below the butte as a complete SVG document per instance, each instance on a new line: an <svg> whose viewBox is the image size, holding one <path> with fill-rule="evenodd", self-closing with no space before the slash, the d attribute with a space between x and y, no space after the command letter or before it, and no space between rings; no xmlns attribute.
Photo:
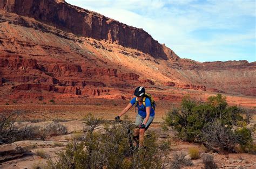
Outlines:
<svg viewBox="0 0 256 169"><path fill-rule="evenodd" d="M227 97L227 100L230 99L231 97ZM233 102L234 100L235 99L233 99ZM83 119L84 116L89 113L92 113L96 117L102 117L103 119L113 119L119 114L119 112L121 112L126 107L128 103L129 100L106 100L103 98L88 98L86 100L83 100L83 102L76 102L74 100L71 101L71 103L43 104L42 102L41 104L2 104L0 105L0 114L6 114L12 111L21 111L22 113L19 118L19 120L21 121L50 119ZM180 103L172 101L157 101L156 116L154 118L154 122L163 122L163 117L165 116L166 112L171 110L172 107L177 107L179 105ZM248 109L248 107L244 108ZM256 109L253 107L249 108L253 117L253 121L256 121ZM131 119L135 118L135 108L132 107L126 113L126 115Z"/></svg>

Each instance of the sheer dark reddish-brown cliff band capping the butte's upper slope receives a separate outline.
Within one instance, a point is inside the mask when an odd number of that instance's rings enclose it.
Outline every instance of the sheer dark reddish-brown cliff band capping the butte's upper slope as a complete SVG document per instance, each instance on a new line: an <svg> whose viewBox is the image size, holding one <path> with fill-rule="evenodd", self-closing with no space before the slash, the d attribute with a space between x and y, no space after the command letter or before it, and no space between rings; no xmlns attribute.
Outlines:
<svg viewBox="0 0 256 169"><path fill-rule="evenodd" d="M173 51L159 44L144 30L119 23L64 1L2 0L0 9L21 16L33 17L64 31L70 31L77 36L104 39L124 47L135 48L155 58L179 59Z"/></svg>

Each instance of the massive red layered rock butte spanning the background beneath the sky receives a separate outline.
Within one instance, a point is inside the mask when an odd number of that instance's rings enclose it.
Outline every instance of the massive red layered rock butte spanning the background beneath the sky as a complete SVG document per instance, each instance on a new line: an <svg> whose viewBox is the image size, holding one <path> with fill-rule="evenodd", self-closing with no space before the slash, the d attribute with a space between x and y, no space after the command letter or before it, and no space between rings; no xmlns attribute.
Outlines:
<svg viewBox="0 0 256 169"><path fill-rule="evenodd" d="M255 74L256 62L181 59L143 29L65 1L0 2L3 103L126 99L140 84L160 100L180 100L184 93L254 99Z"/></svg>

